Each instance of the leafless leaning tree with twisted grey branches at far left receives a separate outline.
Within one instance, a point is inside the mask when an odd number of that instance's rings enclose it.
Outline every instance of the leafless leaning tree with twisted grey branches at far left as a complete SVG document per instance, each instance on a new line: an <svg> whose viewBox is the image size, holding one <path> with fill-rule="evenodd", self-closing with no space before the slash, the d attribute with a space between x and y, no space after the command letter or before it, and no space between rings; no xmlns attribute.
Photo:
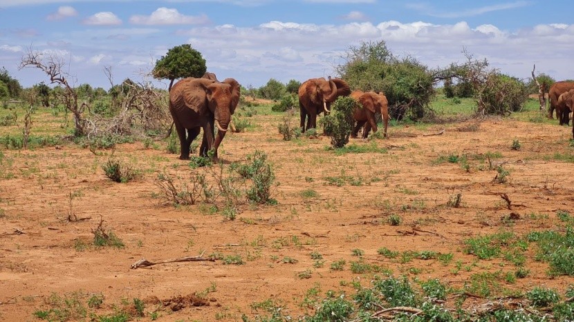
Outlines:
<svg viewBox="0 0 574 322"><path fill-rule="evenodd" d="M89 121L84 118L86 103L80 104L77 92L68 83L68 73L64 72L66 63L64 57L56 54L42 53L28 48L28 52L22 57L19 69L39 68L50 77L50 83L61 85L64 88L62 101L66 110L72 112L75 123L75 136L81 137L88 134Z"/></svg>

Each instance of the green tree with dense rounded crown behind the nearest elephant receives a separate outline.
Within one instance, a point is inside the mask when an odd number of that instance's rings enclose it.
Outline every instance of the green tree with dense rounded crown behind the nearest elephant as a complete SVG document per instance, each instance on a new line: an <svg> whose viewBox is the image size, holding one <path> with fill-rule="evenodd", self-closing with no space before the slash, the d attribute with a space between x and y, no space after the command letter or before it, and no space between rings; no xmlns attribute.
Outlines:
<svg viewBox="0 0 574 322"><path fill-rule="evenodd" d="M156 61L156 67L151 71L155 79L169 79L172 90L175 79L183 77L202 77L207 71L205 59L192 48L189 43L167 50L167 54Z"/></svg>

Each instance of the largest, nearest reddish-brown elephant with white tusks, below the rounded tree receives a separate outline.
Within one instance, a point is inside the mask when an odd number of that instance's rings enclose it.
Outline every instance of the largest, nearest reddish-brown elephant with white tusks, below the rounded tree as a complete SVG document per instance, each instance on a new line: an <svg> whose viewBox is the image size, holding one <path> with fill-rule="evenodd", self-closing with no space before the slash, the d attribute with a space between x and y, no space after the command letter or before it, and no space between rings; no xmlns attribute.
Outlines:
<svg viewBox="0 0 574 322"><path fill-rule="evenodd" d="M231 115L239 103L240 86L235 79L223 82L211 79L182 79L169 92L169 112L172 113L178 132L181 154L179 159L189 159L189 147L203 128L203 142L199 154L206 157L223 141ZM214 135L217 127L217 137ZM186 133L187 130L187 133Z"/></svg>

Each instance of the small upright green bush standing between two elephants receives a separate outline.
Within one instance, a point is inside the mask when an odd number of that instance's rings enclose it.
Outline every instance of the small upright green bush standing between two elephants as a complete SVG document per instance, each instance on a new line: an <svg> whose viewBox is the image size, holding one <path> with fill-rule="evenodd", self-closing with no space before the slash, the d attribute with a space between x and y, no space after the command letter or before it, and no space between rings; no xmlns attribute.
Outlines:
<svg viewBox="0 0 574 322"><path fill-rule="evenodd" d="M321 119L324 132L331 137L333 148L342 148L349 143L351 130L353 130L353 110L358 102L352 97L339 97L331 105L331 114Z"/></svg>

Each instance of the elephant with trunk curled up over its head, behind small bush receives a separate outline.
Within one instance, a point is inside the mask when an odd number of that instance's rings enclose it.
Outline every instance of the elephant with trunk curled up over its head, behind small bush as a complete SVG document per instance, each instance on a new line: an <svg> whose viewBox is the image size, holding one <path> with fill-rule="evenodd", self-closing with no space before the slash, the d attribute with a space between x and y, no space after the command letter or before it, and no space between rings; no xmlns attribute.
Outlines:
<svg viewBox="0 0 574 322"><path fill-rule="evenodd" d="M317 126L317 114L331 112L331 103L340 96L348 96L351 89L342 79L308 79L299 86L299 113L303 132ZM307 126L305 126L307 119Z"/></svg>

